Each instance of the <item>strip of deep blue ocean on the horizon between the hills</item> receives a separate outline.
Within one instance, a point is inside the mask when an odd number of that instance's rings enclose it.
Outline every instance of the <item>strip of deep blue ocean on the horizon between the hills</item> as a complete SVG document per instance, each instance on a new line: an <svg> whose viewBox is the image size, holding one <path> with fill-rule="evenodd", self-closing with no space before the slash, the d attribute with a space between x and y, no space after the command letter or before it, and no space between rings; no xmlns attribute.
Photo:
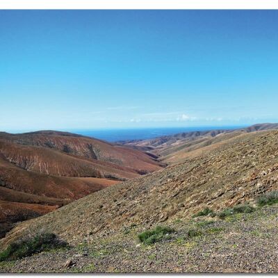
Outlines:
<svg viewBox="0 0 278 278"><path fill-rule="evenodd" d="M99 129L99 130L71 130L83 136L90 136L108 142L117 142L123 140L144 140L160 136L173 135L176 133L190 131L206 131L213 129L240 129L245 126L202 126L202 127L161 127L147 129Z"/></svg>

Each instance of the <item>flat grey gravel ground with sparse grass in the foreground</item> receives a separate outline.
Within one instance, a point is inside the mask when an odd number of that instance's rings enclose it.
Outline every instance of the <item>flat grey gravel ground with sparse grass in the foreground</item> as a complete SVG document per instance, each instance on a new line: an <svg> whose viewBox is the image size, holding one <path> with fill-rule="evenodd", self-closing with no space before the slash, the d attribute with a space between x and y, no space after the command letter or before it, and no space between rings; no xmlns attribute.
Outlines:
<svg viewBox="0 0 278 278"><path fill-rule="evenodd" d="M161 242L145 245L144 227L84 241L70 250L42 252L0 263L1 272L278 272L278 205L250 214L179 219ZM188 229L201 236L188 238Z"/></svg>

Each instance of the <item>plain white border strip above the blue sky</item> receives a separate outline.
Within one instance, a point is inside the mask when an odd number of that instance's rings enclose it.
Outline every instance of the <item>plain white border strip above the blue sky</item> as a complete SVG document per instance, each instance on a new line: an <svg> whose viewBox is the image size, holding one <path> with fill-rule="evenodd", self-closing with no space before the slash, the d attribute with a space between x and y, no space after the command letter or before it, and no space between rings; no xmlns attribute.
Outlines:
<svg viewBox="0 0 278 278"><path fill-rule="evenodd" d="M274 0L0 0L0 9L278 9Z"/></svg>

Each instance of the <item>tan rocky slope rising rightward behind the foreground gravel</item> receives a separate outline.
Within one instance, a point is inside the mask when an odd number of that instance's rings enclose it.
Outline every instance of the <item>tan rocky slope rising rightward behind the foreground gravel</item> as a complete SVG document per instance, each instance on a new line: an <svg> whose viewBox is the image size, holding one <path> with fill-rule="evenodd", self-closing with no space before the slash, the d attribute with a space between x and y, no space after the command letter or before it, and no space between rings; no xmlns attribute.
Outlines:
<svg viewBox="0 0 278 278"><path fill-rule="evenodd" d="M28 229L49 229L70 243L160 222L188 219L205 206L219 211L278 188L278 131L245 133L208 152L72 202L19 224L1 243Z"/></svg>

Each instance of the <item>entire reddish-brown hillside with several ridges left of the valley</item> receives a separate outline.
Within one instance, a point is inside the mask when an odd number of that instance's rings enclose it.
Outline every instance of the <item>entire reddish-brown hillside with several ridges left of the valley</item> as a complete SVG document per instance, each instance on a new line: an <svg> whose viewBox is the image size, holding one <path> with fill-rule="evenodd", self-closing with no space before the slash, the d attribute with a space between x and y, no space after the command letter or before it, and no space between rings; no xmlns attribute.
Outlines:
<svg viewBox="0 0 278 278"><path fill-rule="evenodd" d="M15 222L160 168L143 152L72 133L0 133L0 236Z"/></svg>

